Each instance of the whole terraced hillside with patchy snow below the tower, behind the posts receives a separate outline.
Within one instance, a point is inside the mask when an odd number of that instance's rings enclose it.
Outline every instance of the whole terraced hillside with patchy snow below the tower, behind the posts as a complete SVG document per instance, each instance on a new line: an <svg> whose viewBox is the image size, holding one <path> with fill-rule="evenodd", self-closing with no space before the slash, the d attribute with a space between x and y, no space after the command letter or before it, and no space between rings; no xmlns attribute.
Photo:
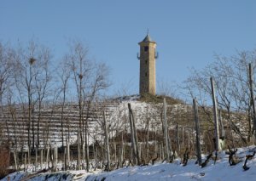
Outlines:
<svg viewBox="0 0 256 181"><path fill-rule="evenodd" d="M114 153L118 152L117 147L121 142L131 143L130 124L127 104L131 103L131 108L136 117L138 140L142 144L142 150L148 150L154 155L156 150L163 146L163 104L160 101L155 103L143 101L138 97L122 97L109 99L104 103L94 103L90 107L84 106L82 122L79 123L79 105L68 103L44 105L39 111L35 107L32 111L32 122L28 122L27 108L22 105L10 105L1 109L0 131L3 140L9 140L13 148L26 150L28 140L28 126L30 126L30 141L36 147L46 148L49 144L53 147L60 147L62 144L74 144L77 141L78 130L80 128L85 136L86 122L88 122L89 144L104 142L104 131L102 122L103 110L106 112L110 142L113 144L111 149ZM86 105L86 104L85 104ZM212 121L211 108L199 109L201 121L201 143L203 150L212 150L212 138L214 127ZM227 116L222 114L225 131L226 143L241 144L241 138L247 137L247 122L241 114L231 116L232 124L227 120ZM39 126L38 126L39 122ZM195 120L191 105L179 102L172 102L167 107L167 122L169 134L174 150L182 150L190 146L193 150L195 146ZM235 131L230 131L232 127ZM124 136L124 139L121 137ZM146 145L145 143L152 144ZM149 153L148 153L149 154ZM150 155L150 154L149 154Z"/></svg>

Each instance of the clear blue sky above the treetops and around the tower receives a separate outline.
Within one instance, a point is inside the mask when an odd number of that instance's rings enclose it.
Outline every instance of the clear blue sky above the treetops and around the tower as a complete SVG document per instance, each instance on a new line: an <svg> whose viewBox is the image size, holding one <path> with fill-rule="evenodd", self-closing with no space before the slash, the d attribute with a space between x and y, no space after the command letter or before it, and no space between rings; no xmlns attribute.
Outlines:
<svg viewBox="0 0 256 181"><path fill-rule="evenodd" d="M147 29L160 54L157 83L180 83L189 67L201 69L214 53L230 56L256 48L256 1L0 1L1 41L35 37L59 59L69 39L81 39L92 57L110 66L110 93L121 88L138 93L137 42Z"/></svg>

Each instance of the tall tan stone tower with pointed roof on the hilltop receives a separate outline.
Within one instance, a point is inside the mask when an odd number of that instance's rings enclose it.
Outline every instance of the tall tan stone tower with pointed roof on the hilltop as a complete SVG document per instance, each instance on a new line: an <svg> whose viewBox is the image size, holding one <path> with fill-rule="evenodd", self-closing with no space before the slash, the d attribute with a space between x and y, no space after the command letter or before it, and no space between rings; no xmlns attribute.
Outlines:
<svg viewBox="0 0 256 181"><path fill-rule="evenodd" d="M155 51L156 42L149 35L143 39L140 45L140 94L150 93L155 95L155 59L157 54Z"/></svg>

